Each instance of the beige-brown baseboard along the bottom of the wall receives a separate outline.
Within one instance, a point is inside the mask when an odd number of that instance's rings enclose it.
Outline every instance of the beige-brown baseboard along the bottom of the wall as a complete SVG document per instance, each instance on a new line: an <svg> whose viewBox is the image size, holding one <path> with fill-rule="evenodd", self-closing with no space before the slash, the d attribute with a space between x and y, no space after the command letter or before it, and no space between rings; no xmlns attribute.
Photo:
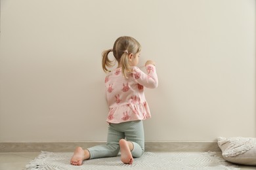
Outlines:
<svg viewBox="0 0 256 170"><path fill-rule="evenodd" d="M81 143L0 143L0 152L73 152L104 142ZM146 152L221 152L217 142L145 142Z"/></svg>

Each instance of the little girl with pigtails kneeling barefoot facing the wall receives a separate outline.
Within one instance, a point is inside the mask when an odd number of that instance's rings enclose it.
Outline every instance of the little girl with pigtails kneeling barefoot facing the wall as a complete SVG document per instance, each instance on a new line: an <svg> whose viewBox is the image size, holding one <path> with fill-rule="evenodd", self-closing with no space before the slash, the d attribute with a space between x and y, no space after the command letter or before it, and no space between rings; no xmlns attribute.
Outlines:
<svg viewBox="0 0 256 170"><path fill-rule="evenodd" d="M144 129L142 120L150 118L150 109L144 96L144 87L156 88L158 76L154 61L146 61L147 74L136 65L139 63L141 46L133 37L119 37L113 49L102 53L102 68L108 73L105 78L106 97L109 106L106 145L93 146L83 150L75 149L70 163L81 165L83 160L117 156L121 151L123 163L133 163L144 153ZM108 58L113 52L118 66Z"/></svg>

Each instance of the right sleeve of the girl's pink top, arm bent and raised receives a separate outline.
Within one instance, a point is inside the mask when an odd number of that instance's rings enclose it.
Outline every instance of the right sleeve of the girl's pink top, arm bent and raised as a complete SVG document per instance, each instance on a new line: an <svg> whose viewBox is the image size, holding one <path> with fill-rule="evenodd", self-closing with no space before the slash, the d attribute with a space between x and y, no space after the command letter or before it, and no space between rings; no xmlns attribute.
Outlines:
<svg viewBox="0 0 256 170"><path fill-rule="evenodd" d="M158 75L156 74L156 67L154 65L146 65L146 73L141 71L138 67L133 67L133 78L138 84L146 88L158 87Z"/></svg>

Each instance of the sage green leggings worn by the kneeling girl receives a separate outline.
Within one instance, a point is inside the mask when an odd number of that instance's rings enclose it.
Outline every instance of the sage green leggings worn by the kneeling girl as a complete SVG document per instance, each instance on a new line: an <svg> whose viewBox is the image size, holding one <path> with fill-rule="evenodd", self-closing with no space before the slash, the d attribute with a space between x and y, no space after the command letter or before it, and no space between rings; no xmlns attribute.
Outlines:
<svg viewBox="0 0 256 170"><path fill-rule="evenodd" d="M139 158L144 153L144 129L142 120L110 124L108 126L108 141L106 145L87 148L90 159L117 156L119 152L119 140L125 139L133 143L131 154L133 158Z"/></svg>

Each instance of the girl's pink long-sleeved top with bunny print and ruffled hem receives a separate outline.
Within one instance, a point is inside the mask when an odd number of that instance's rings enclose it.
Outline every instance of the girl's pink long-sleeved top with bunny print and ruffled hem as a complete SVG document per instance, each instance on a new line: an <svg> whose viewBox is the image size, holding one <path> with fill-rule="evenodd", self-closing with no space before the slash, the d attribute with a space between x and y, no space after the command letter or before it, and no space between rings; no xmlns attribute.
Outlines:
<svg viewBox="0 0 256 170"><path fill-rule="evenodd" d="M107 122L119 124L150 118L150 109L144 95L144 87L156 88L158 76L154 65L146 65L147 74L133 67L125 78L121 68L110 72L105 78L106 97L109 106Z"/></svg>

